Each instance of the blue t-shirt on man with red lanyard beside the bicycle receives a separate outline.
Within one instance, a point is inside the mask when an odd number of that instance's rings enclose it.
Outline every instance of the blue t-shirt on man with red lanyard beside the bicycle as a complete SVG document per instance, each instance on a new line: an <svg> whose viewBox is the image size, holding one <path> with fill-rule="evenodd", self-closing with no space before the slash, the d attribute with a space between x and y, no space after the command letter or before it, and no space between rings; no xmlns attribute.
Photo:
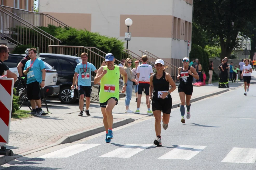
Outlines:
<svg viewBox="0 0 256 170"><path fill-rule="evenodd" d="M24 70L26 70L30 66L31 60L27 61L24 67ZM33 63L33 61L32 61ZM31 64L32 64L31 63ZM45 69L45 65L43 60L36 58L35 62L29 69L27 73L27 84L33 83L33 82L42 82L42 70Z"/></svg>

